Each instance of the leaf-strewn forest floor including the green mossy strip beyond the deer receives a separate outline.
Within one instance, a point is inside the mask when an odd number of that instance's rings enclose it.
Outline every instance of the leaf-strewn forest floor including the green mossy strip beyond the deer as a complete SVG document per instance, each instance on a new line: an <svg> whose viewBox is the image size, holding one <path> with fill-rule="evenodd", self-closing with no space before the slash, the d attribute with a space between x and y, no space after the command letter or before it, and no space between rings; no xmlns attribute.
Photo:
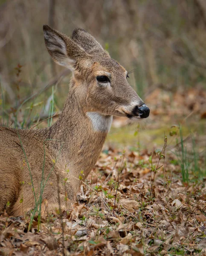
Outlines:
<svg viewBox="0 0 206 256"><path fill-rule="evenodd" d="M156 89L148 121L114 119L67 212L0 216L0 255L206 255L206 92ZM39 232L38 232L38 229Z"/></svg>

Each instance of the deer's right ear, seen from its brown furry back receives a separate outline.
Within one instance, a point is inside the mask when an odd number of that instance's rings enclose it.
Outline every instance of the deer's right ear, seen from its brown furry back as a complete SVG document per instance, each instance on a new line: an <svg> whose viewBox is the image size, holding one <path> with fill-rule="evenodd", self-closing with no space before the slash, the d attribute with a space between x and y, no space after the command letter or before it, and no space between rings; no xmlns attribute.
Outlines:
<svg viewBox="0 0 206 256"><path fill-rule="evenodd" d="M96 39L90 35L84 29L76 28L72 33L72 40L75 41L81 48L83 48L88 54L98 53L105 57L109 57L109 53L106 52L102 45L99 44Z"/></svg>

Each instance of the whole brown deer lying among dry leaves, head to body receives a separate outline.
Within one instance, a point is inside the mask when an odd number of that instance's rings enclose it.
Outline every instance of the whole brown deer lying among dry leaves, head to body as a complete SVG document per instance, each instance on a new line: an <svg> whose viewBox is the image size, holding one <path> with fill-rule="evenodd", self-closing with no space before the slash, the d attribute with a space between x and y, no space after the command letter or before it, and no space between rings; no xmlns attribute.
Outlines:
<svg viewBox="0 0 206 256"><path fill-rule="evenodd" d="M92 35L76 28L70 38L47 25L43 31L52 59L70 69L72 77L53 125L0 127L0 212L13 216L34 209L43 176L48 212L64 207L65 195L73 204L98 160L113 116L138 120L150 113L128 84L128 72Z"/></svg>

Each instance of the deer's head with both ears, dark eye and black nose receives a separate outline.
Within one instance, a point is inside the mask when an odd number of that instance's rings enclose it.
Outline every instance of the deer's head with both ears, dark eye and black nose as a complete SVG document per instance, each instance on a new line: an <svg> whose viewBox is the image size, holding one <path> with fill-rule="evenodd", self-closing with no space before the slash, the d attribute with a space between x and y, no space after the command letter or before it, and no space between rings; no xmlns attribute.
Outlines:
<svg viewBox="0 0 206 256"><path fill-rule="evenodd" d="M73 72L70 90L88 116L146 118L149 108L128 84L127 71L84 29L72 38L44 25L46 48L53 60Z"/></svg>

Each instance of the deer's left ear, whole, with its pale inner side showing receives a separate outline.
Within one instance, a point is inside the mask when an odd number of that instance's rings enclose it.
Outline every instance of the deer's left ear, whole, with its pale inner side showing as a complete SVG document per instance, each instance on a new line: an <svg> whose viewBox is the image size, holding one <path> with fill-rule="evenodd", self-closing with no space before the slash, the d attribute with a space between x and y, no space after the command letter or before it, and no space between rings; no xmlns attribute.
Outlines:
<svg viewBox="0 0 206 256"><path fill-rule="evenodd" d="M44 25L44 41L52 59L59 65L74 69L78 58L87 55L84 49L76 44L71 38Z"/></svg>

